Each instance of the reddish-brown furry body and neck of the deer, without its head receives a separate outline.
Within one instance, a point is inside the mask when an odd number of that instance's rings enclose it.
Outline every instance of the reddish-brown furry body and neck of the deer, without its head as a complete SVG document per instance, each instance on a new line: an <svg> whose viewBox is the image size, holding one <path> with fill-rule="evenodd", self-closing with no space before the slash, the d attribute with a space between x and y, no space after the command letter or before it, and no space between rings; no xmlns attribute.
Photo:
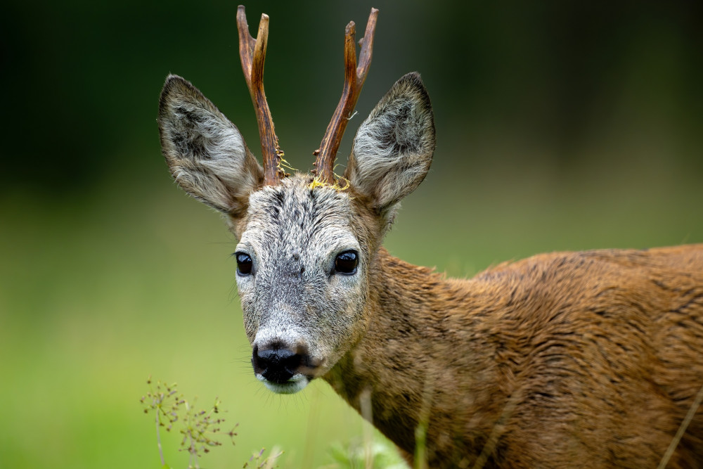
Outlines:
<svg viewBox="0 0 703 469"><path fill-rule="evenodd" d="M325 379L429 467L656 467L703 376L703 245L539 255L468 281L381 250L359 343ZM489 441L489 439L494 441ZM669 467L703 464L703 409ZM409 458L410 456L408 456Z"/></svg>

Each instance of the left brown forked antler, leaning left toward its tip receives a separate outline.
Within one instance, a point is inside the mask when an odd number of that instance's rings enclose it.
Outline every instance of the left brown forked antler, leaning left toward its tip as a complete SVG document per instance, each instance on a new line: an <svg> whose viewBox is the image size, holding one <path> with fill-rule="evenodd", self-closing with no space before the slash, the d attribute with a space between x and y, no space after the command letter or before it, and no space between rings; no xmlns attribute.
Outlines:
<svg viewBox="0 0 703 469"><path fill-rule="evenodd" d="M259 124L259 138L264 160L264 184L275 186L285 174L279 167L283 151L278 147L278 137L273 130L273 118L264 94L264 60L266 60L266 41L269 39L269 16L262 14L257 39L254 39L249 34L244 6L240 5L237 8L237 29L242 70Z"/></svg>

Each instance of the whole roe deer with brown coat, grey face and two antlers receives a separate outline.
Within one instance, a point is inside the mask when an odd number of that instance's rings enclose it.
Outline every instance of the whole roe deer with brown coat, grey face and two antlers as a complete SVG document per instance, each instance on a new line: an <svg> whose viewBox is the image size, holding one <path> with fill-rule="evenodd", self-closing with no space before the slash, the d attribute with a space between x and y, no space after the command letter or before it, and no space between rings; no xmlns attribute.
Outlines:
<svg viewBox="0 0 703 469"><path fill-rule="evenodd" d="M371 60L345 36L340 104L313 174L283 172L257 39L238 9L240 58L264 167L198 89L170 75L162 150L176 182L224 214L256 377L294 393L323 378L408 461L430 467L703 467L703 245L537 255L468 280L381 247L427 174L434 118L405 75L333 165ZM366 399L366 404L364 403ZM678 433L678 435L677 435Z"/></svg>

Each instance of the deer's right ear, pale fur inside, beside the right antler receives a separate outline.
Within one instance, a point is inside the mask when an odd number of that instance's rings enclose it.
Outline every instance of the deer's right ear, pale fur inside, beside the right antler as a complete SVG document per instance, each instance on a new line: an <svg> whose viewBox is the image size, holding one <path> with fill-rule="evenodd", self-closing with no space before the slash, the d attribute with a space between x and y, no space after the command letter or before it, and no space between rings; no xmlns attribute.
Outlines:
<svg viewBox="0 0 703 469"><path fill-rule="evenodd" d="M425 179L434 153L434 116L420 75L408 73L356 131L344 173L387 214Z"/></svg>

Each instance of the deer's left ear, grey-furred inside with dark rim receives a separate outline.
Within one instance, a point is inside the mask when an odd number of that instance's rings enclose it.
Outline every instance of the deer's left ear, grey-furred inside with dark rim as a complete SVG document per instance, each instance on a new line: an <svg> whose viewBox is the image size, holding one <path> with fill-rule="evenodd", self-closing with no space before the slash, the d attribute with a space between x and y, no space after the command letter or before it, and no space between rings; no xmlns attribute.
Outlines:
<svg viewBox="0 0 703 469"><path fill-rule="evenodd" d="M159 103L161 148L186 192L220 212L240 217L264 170L237 127L190 82L169 75Z"/></svg>

